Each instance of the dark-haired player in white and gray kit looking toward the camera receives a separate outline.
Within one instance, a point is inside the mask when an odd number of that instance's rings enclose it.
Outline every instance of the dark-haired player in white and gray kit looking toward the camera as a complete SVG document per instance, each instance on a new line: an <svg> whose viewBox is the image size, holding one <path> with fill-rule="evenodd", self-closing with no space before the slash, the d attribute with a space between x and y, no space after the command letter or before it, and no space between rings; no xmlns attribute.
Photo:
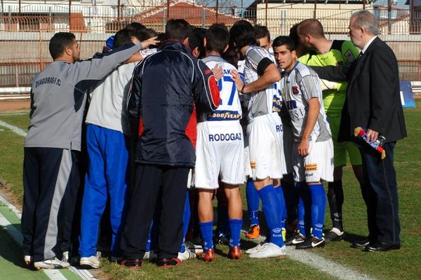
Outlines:
<svg viewBox="0 0 421 280"><path fill-rule="evenodd" d="M276 53L279 65L285 69L281 80L285 91L284 102L293 123L294 179L299 183L299 188L308 188L305 191L311 195L311 202L305 201L305 206L311 203L312 238L304 239L295 248L314 248L325 244L323 223L326 196L321 181L333 181L333 142L322 106L319 77L308 66L297 61L292 38L279 36L278 39ZM300 193L303 191L300 190Z"/></svg>

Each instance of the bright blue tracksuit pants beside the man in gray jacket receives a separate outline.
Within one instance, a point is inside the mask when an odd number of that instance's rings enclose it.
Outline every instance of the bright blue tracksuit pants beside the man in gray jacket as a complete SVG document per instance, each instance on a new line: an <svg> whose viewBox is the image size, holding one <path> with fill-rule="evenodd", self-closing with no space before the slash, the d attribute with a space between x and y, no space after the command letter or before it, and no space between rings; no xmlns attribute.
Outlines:
<svg viewBox="0 0 421 280"><path fill-rule="evenodd" d="M95 255L98 231L107 200L110 202L112 256L118 257L128 183L128 138L97 125L86 128L88 172L81 213L81 257Z"/></svg>

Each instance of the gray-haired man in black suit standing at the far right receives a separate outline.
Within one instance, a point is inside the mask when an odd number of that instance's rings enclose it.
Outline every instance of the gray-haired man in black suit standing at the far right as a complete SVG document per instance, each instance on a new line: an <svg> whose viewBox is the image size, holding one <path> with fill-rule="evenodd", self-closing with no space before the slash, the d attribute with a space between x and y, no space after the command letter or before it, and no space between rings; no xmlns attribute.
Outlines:
<svg viewBox="0 0 421 280"><path fill-rule="evenodd" d="M396 141L406 137L399 94L398 64L394 52L377 37L377 20L367 10L354 13L349 37L362 51L349 66L313 67L320 78L347 80L347 98L342 110L338 141L356 141L354 129L366 129L370 141L385 137L386 158L361 141L365 183L361 193L367 206L368 237L354 241L364 251L399 249L401 227L398 215L396 173L393 166Z"/></svg>

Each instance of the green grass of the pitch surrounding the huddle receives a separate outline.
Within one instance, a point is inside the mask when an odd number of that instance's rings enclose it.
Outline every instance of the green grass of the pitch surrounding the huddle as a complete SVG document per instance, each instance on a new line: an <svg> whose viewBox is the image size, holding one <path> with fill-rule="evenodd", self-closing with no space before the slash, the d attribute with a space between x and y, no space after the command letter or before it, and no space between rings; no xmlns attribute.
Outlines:
<svg viewBox="0 0 421 280"><path fill-rule="evenodd" d="M344 169L344 224L347 237L345 241L333 242L325 248L317 248L312 253L338 263L338 267L348 267L375 279L420 279L421 278L421 100L417 100L416 109L405 109L408 138L399 141L395 149L395 167L399 182L399 211L401 218L402 248L387 253L365 253L350 248L350 242L365 237L366 207L363 203L359 185L350 167ZM5 115L0 113L0 120L27 130L28 116ZM11 130L0 127L0 179L8 191L15 197L15 202L22 200L22 144L23 138ZM245 197L243 195L243 197ZM243 201L245 204L245 200ZM246 209L244 207L244 209ZM330 228L329 214L326 213L326 229ZM253 244L243 239L243 248ZM292 258L272 258L251 260L244 257L239 261L228 260L227 246L218 246L217 260L204 263L189 260L180 267L160 269L145 262L142 269L135 271L117 265L102 262L104 279L333 279Z"/></svg>

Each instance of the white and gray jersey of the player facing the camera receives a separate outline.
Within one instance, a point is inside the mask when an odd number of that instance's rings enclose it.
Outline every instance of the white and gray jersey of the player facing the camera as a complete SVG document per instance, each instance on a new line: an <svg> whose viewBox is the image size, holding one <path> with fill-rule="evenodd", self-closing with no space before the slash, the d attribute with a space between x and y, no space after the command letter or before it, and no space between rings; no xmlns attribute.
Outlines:
<svg viewBox="0 0 421 280"><path fill-rule="evenodd" d="M329 123L323 108L319 76L305 64L297 62L290 72L281 79L283 101L293 123L294 141L300 142L307 122L307 101L319 99L320 111L309 141L326 141L331 138Z"/></svg>

